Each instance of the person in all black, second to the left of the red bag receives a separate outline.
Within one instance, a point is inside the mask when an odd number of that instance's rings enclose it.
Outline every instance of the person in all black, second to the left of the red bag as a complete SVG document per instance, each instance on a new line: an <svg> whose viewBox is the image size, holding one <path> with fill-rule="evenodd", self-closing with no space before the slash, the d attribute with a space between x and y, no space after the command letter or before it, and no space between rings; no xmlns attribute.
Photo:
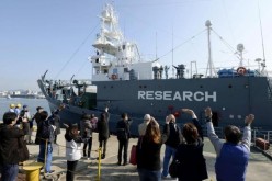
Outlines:
<svg viewBox="0 0 272 181"><path fill-rule="evenodd" d="M109 122L106 120L105 113L101 113L100 120L98 122L98 132L99 132L99 147L103 147L103 152L101 158L105 158L106 152L106 142L110 137L110 131L109 131Z"/></svg>

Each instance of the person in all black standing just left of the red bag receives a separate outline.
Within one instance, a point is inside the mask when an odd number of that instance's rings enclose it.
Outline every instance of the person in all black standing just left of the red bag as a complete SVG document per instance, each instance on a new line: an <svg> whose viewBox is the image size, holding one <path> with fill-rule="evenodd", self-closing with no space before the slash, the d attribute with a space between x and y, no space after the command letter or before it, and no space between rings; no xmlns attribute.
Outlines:
<svg viewBox="0 0 272 181"><path fill-rule="evenodd" d="M128 140L131 137L131 120L128 120L128 116L126 113L123 113L121 115L122 120L117 122L116 131L117 131L117 139L118 139L118 162L117 165L121 166L122 162L122 150L124 148L124 163L123 166L127 165L127 147L128 147Z"/></svg>

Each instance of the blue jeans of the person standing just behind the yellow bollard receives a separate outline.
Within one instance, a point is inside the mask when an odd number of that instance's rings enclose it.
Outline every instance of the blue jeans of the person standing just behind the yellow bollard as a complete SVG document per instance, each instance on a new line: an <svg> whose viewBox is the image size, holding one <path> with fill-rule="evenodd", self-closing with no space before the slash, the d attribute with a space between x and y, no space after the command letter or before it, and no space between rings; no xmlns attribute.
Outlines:
<svg viewBox="0 0 272 181"><path fill-rule="evenodd" d="M44 162L45 159L45 145L41 144L39 145L39 152L38 152L38 157L37 157L37 161L38 162ZM48 143L47 144L47 155L46 155L46 163L45 163L45 172L50 172L50 165L52 165L52 152L53 152L53 147L52 144Z"/></svg>

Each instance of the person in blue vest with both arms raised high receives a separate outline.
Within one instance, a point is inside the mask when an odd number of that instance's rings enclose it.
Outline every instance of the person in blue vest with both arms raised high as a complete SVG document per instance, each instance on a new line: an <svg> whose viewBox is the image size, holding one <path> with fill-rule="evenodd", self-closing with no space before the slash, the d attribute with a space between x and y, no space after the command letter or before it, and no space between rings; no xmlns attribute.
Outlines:
<svg viewBox="0 0 272 181"><path fill-rule="evenodd" d="M206 108L207 136L217 155L215 162L216 179L217 181L245 181L251 143L250 125L254 120L254 115L249 114L246 116L243 134L236 126L228 125L225 127L225 143L215 134L212 115L211 108Z"/></svg>

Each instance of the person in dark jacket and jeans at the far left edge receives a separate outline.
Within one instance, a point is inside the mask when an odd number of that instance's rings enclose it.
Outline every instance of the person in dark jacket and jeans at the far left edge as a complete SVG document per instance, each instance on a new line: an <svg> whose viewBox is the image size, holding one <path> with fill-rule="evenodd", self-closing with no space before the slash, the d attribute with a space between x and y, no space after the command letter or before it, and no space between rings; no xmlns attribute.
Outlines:
<svg viewBox="0 0 272 181"><path fill-rule="evenodd" d="M23 129L14 126L18 115L13 112L7 112L3 115L3 124L0 125L0 168L1 181L15 180L19 171L21 154L20 145L25 144L23 136L27 134L27 120L23 118ZM26 148L26 146L24 145ZM27 148L26 148L27 151Z"/></svg>

